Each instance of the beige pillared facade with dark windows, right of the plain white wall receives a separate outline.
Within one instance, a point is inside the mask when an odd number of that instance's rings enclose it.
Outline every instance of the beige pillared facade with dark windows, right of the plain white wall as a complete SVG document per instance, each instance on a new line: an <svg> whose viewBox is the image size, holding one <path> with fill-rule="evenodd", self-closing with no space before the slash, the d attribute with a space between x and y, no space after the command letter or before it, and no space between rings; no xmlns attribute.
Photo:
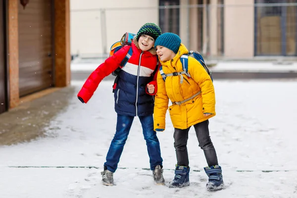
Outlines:
<svg viewBox="0 0 297 198"><path fill-rule="evenodd" d="M204 55L297 56L297 0L160 0L160 5L167 5L160 8L162 30L179 34L189 49Z"/></svg>

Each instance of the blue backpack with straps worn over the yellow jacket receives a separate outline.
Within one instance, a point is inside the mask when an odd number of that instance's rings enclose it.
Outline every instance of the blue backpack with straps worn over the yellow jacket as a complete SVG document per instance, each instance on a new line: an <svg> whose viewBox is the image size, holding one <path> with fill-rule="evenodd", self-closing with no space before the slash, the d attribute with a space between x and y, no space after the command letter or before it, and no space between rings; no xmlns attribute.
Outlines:
<svg viewBox="0 0 297 198"><path fill-rule="evenodd" d="M203 68L206 70L206 72L208 73L208 75L211 78L211 81L213 81L212 75L211 75L211 70L208 69L208 67L205 64L205 61L202 57L202 55L198 52L198 51L193 51L191 50L188 54L183 54L180 58L182 65L183 65L183 71L182 72L173 72L171 74L164 74L162 66L160 67L160 74L163 78L163 80L166 80L167 76L181 76L181 83L183 83L183 75L182 74L186 74L186 76L188 76L189 78L191 78L191 75L188 72L188 57L191 56L193 58L195 58L196 60L199 61L199 63L203 66Z"/></svg>

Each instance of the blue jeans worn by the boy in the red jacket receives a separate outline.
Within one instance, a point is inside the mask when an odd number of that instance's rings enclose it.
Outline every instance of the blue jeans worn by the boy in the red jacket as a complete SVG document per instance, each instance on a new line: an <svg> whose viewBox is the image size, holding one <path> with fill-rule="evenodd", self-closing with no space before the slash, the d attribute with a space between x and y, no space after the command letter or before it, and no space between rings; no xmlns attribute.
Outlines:
<svg viewBox="0 0 297 198"><path fill-rule="evenodd" d="M117 114L116 132L106 155L104 169L111 172L116 171L133 120L134 116ZM140 116L139 120L143 128L144 138L147 142L150 170L154 170L156 165L162 166L163 159L161 157L159 140L156 132L153 130L153 117L152 115Z"/></svg>

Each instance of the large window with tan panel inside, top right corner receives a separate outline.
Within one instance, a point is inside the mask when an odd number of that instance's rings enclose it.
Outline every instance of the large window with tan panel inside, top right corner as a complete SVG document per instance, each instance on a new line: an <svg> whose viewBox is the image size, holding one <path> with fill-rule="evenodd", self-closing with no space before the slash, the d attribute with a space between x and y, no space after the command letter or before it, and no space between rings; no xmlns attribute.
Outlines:
<svg viewBox="0 0 297 198"><path fill-rule="evenodd" d="M297 6L286 3L297 0L255 0L255 55L297 55Z"/></svg>

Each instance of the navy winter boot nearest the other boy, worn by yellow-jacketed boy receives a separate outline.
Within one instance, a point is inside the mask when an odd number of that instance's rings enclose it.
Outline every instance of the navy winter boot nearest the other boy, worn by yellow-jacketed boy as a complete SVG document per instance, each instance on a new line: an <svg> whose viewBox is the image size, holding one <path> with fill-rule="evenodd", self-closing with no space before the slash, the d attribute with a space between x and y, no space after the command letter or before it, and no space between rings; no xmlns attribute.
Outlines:
<svg viewBox="0 0 297 198"><path fill-rule="evenodd" d="M184 186L190 186L190 167L176 165L174 173L174 180L170 182L170 188L182 188Z"/></svg>

